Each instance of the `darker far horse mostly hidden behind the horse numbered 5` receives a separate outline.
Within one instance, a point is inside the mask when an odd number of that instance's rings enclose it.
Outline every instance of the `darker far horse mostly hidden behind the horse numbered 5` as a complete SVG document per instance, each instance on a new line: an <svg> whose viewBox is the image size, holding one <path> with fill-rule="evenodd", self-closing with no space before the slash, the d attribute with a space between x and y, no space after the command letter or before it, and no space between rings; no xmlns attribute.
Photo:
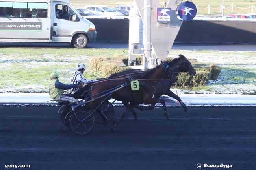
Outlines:
<svg viewBox="0 0 256 170"><path fill-rule="evenodd" d="M188 108L186 106L186 104L184 104L184 102L180 99L180 97L176 94L174 94L170 88L171 85L175 82L177 82L177 76L178 73L180 72L187 72L189 73L191 76L196 74L195 69L193 68L193 66L191 65L191 63L186 59L185 56L183 55L179 55L179 58L175 58L174 60L170 61L169 63L169 67L171 69L171 73L173 73L170 81L159 81L157 86L156 86L156 93L154 95L155 99L159 99L160 96L162 95L168 95L169 97L172 97L174 99L176 99L177 101L180 102L180 104L182 105L182 107L184 108L184 111L188 113ZM118 78L118 77L127 77L127 76L132 76L135 79L142 79L143 75L145 74L145 72L141 71L141 70L126 70L126 71L122 71L120 73L115 73L112 74L109 78ZM165 108L165 101L163 102L163 106ZM151 110L151 107L145 107L145 106L137 106L135 107L139 110ZM137 113L134 110L131 110L133 115L137 115ZM168 114L168 112L166 112L166 114ZM123 115L123 117L125 117L125 115ZM134 117L135 119L137 119L137 117Z"/></svg>

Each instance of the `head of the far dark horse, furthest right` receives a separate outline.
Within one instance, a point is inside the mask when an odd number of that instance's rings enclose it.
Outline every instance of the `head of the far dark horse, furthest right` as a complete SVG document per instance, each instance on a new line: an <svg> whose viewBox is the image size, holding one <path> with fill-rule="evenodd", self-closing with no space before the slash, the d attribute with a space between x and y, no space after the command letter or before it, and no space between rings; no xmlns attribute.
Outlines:
<svg viewBox="0 0 256 170"><path fill-rule="evenodd" d="M195 69L193 68L192 64L187 60L187 58L184 55L179 55L180 62L178 62L178 65L176 66L180 72L187 72L191 76L196 74Z"/></svg>

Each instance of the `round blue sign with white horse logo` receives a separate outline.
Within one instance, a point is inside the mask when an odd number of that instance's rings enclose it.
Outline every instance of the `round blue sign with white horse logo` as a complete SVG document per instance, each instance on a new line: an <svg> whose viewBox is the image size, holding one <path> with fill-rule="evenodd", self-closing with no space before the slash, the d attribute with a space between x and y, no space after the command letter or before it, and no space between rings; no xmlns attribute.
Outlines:
<svg viewBox="0 0 256 170"><path fill-rule="evenodd" d="M192 20L197 15L197 7L190 1L182 2L178 7L178 15L182 20Z"/></svg>

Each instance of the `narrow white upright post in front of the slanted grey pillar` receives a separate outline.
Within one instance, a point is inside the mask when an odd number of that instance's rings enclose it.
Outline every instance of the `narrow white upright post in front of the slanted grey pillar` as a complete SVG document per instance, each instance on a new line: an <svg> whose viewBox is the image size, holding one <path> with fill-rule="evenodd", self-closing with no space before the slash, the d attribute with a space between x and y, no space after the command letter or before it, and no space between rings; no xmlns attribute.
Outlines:
<svg viewBox="0 0 256 170"><path fill-rule="evenodd" d="M144 57L143 70L148 68L148 61L151 58L151 0L144 0Z"/></svg>

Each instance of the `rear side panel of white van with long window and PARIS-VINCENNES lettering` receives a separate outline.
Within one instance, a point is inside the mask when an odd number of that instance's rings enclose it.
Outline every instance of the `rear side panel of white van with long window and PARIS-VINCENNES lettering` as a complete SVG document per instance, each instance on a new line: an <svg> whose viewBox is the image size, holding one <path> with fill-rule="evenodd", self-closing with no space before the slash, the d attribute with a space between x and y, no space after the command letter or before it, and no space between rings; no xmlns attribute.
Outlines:
<svg viewBox="0 0 256 170"><path fill-rule="evenodd" d="M50 42L49 9L46 1L0 2L0 41Z"/></svg>

